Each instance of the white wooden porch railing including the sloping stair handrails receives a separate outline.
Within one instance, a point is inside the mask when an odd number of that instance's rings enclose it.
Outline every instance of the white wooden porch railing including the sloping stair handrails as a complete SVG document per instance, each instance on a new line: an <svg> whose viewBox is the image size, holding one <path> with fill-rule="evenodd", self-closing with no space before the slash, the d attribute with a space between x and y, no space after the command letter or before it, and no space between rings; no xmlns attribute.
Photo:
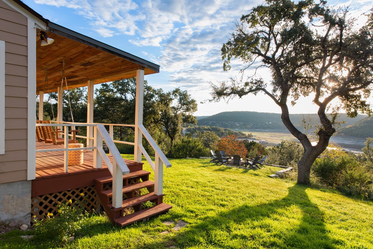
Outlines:
<svg viewBox="0 0 373 249"><path fill-rule="evenodd" d="M45 126L46 124L37 124L37 126ZM127 142L127 141L119 141L119 140L113 140L113 135L114 135L114 126L125 126L125 127L135 127L134 124L108 124L108 123L72 123L72 122L56 122L56 124L48 124L48 126L94 126L94 136L93 138L90 138L88 136L80 136L76 135L77 138L84 138L87 139L87 144L89 139L93 139L94 146L93 147L84 147L84 148L74 148L74 149L68 149L68 150L79 150L79 149L94 149L94 165L97 165L96 167L102 167L102 159L104 160L105 164L110 170L110 173L112 173L113 176L113 207L121 207L122 206L122 174L126 174L125 170L128 170L128 167L123 161L123 158L120 156L120 153L118 149L115 146L115 143L120 143L120 144L128 144L128 145L134 145L134 142ZM109 133L105 129L104 126L109 126ZM135 127L136 129L136 127ZM154 150L154 156L155 160L151 159L149 156L148 152L145 150L144 146L142 145L142 141L139 142L138 148L140 149L142 155L144 155L145 159L149 163L150 167L154 171L154 194L156 195L162 195L163 194L163 165L166 166L166 168L171 167L170 161L167 159L167 157L163 154L162 150L159 148L157 143L154 141L154 139L151 137L149 132L145 129L144 125L140 124L138 125L139 131L142 133L144 138L148 141L150 146ZM65 131L65 144L67 144L66 137L72 136L71 134L68 134L68 132ZM109 166L110 165L110 160L107 157L106 153L104 152L102 148L102 141L105 141L110 154L109 156L113 156L113 166L116 164L117 167ZM66 147L66 146L65 146ZM66 150L65 149L59 149L60 151ZM66 150L66 151L68 151ZM53 151L53 149L52 149ZM57 150L55 150L57 151ZM37 150L38 152L38 150ZM43 150L39 150L39 152L43 152ZM65 152L68 154L67 152ZM100 159L101 158L101 159ZM65 164L66 164L66 170L67 170L67 161L68 158L65 158ZM125 167L118 163L118 162L123 162ZM67 172L67 171L66 171ZM118 172L118 173L117 173ZM129 172L129 171L128 171ZM115 186L115 187L114 187ZM117 195L117 198L114 201L114 196Z"/></svg>

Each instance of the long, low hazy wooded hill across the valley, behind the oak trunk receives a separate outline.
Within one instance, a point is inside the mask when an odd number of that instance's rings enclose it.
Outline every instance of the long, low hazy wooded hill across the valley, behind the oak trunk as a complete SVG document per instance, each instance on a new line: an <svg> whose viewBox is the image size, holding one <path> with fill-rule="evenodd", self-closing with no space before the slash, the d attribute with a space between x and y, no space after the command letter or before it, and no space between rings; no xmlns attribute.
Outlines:
<svg viewBox="0 0 373 249"><path fill-rule="evenodd" d="M293 124L303 131L301 122L303 117L308 120L311 117L313 123L319 124L317 114L290 114L290 120ZM341 127L351 126L354 123L364 119L367 115L358 114L354 119L347 117L345 113L341 114L338 121L345 120ZM281 114L279 113L260 113L256 111L225 111L209 117L198 120L198 125L219 126L231 129L271 129L286 130L282 123Z"/></svg>

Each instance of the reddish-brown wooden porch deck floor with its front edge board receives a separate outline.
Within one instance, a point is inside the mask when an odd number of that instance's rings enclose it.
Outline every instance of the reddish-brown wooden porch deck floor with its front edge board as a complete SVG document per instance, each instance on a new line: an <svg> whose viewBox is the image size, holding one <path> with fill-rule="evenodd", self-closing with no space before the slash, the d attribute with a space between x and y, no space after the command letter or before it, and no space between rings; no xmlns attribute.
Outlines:
<svg viewBox="0 0 373 249"><path fill-rule="evenodd" d="M63 145L36 142L36 149L57 149ZM109 157L110 162L113 158ZM142 163L123 159L131 172L142 169ZM84 152L84 163L69 165L66 173L63 166L63 151L36 153L35 179L31 183L31 196L40 196L94 185L94 179L111 176L103 161L102 168L93 167L93 152Z"/></svg>

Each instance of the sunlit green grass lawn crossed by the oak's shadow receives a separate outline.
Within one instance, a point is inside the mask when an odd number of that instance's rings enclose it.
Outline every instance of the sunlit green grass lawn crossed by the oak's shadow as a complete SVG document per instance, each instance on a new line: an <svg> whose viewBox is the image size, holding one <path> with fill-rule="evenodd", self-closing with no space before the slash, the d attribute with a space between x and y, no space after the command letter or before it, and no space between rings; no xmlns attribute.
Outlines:
<svg viewBox="0 0 373 249"><path fill-rule="evenodd" d="M269 178L276 167L244 170L209 160L170 161L163 199L173 206L169 213L125 228L95 215L64 248L373 248L372 202ZM147 163L144 169L151 171ZM164 220L189 225L175 232ZM1 235L0 248L56 248L20 237L33 233Z"/></svg>

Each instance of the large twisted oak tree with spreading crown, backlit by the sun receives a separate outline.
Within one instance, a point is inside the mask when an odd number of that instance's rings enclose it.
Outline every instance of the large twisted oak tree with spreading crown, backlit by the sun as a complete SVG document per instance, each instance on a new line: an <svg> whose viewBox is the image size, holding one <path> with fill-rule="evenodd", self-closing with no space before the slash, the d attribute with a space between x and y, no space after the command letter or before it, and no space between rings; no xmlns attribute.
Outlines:
<svg viewBox="0 0 373 249"><path fill-rule="evenodd" d="M372 114L366 101L373 80L372 15L360 29L347 16L348 9L333 9L326 1L266 0L242 16L221 51L224 70L238 58L245 63L242 73L267 67L272 80L254 75L211 84L210 101L264 92L281 108L282 122L304 147L298 183L309 183L311 166L335 133L341 108L349 117ZM314 96L319 107L319 141L314 146L289 119L288 105L301 95ZM332 105L336 98L339 104Z"/></svg>

